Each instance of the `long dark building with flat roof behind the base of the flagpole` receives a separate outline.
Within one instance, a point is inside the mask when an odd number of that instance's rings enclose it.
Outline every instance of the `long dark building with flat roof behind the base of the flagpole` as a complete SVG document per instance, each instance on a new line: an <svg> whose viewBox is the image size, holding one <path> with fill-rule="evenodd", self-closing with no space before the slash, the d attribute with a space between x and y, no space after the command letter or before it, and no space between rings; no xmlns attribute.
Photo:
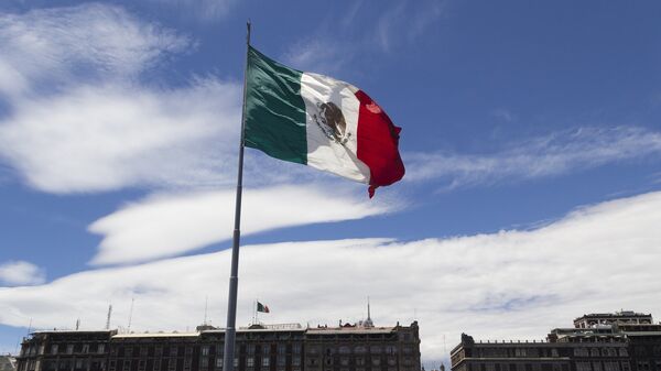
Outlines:
<svg viewBox="0 0 661 371"><path fill-rule="evenodd" d="M191 334L37 331L25 338L17 371L218 371L225 331ZM253 325L237 330L240 371L419 371L418 323L376 327Z"/></svg>

